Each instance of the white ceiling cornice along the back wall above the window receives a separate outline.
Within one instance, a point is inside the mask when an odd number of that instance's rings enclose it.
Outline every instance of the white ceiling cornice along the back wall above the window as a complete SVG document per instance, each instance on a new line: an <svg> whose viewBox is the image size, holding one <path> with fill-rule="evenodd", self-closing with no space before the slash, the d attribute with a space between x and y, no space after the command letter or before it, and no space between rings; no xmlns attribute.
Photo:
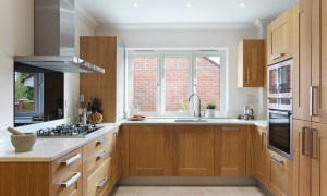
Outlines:
<svg viewBox="0 0 327 196"><path fill-rule="evenodd" d="M96 30L256 29L254 23L99 23Z"/></svg>

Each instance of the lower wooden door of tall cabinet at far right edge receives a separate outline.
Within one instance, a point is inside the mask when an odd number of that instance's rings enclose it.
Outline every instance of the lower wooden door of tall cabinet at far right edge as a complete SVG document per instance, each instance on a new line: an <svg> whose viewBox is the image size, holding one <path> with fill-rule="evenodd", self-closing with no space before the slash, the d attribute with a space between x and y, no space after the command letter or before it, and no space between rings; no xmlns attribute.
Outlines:
<svg viewBox="0 0 327 196"><path fill-rule="evenodd" d="M312 196L327 195L327 124L312 123Z"/></svg>

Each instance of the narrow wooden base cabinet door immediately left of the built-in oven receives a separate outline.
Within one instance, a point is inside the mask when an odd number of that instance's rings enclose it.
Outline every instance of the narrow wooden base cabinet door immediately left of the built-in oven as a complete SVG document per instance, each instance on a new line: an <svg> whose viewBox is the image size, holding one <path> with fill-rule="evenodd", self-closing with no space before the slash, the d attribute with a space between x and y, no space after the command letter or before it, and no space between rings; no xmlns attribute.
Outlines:
<svg viewBox="0 0 327 196"><path fill-rule="evenodd" d="M254 136L254 176L263 184L267 184L267 130L256 127Z"/></svg>

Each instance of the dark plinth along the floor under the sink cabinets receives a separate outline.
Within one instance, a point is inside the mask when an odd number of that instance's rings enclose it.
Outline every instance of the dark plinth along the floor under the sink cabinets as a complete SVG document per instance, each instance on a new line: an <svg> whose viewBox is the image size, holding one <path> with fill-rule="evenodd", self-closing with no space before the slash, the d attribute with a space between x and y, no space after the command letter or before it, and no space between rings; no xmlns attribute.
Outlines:
<svg viewBox="0 0 327 196"><path fill-rule="evenodd" d="M119 186L257 186L254 177L121 177Z"/></svg>

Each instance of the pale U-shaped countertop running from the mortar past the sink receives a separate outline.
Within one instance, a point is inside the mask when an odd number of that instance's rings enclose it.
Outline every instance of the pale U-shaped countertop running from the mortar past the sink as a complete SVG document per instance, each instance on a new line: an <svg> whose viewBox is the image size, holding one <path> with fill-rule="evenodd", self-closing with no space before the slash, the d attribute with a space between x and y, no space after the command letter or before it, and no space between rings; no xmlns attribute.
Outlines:
<svg viewBox="0 0 327 196"><path fill-rule="evenodd" d="M106 134L120 125L137 125L137 124L173 124L173 125L215 125L215 124L247 124L261 127L267 127L267 121L254 120L244 121L238 119L206 119L208 122L174 122L174 119L147 119L146 121L128 121L123 120L117 123L102 123L105 126L85 138L37 138L34 149L28 152L14 151L14 147L10 142L0 143L0 162L49 162L57 158L83 146L89 140ZM3 131L7 132L7 131Z"/></svg>

